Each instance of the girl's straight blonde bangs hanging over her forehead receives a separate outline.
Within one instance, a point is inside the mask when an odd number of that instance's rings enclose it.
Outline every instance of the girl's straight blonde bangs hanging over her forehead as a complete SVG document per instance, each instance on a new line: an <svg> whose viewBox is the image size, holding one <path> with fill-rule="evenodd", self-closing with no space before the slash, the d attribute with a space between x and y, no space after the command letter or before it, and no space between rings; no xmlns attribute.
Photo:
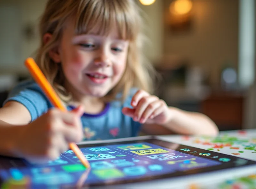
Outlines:
<svg viewBox="0 0 256 189"><path fill-rule="evenodd" d="M117 29L118 37L133 41L138 34L138 17L135 11L128 11L127 1L91 0L87 1L76 17L76 34L96 34L107 36Z"/></svg>

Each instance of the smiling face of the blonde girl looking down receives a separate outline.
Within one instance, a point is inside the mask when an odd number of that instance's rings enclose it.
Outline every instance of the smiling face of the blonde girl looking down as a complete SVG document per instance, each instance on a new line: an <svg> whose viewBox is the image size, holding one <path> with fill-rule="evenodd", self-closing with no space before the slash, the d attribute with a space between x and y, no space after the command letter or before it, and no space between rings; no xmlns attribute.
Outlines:
<svg viewBox="0 0 256 189"><path fill-rule="evenodd" d="M118 38L115 28L108 36L74 36L73 28L66 27L59 56L70 92L80 97L105 96L124 73L128 46L128 41Z"/></svg>

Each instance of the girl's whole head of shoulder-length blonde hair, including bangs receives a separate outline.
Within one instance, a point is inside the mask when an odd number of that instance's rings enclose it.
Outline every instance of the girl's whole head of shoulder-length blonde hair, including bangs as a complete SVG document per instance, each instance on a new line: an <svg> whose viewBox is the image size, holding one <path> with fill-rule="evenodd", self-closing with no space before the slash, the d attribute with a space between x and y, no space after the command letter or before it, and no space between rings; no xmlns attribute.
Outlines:
<svg viewBox="0 0 256 189"><path fill-rule="evenodd" d="M114 100L119 92L123 92L124 100L132 87L150 92L152 75L150 77L148 71L152 67L142 55L143 20L134 0L49 0L40 21L41 45L36 62L64 102L68 102L71 96L63 87L65 77L61 64L54 63L48 52L58 46L65 23L71 18L75 21L76 34L89 33L95 29L95 23L100 23L98 34L107 35L116 24L120 38L129 41L124 74L103 98L105 101ZM52 34L52 38L44 44L43 36L46 33Z"/></svg>

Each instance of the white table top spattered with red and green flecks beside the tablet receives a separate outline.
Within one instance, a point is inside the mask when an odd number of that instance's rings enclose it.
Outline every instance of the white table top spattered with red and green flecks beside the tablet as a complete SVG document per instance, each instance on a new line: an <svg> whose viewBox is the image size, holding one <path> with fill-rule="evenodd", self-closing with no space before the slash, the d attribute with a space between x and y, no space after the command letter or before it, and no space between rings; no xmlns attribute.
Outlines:
<svg viewBox="0 0 256 189"><path fill-rule="evenodd" d="M192 147L239 156L244 159L256 161L256 129L220 132L217 137L174 135L163 136L162 138ZM256 170L253 170L253 172L255 174L248 175L247 177L220 181L214 186L211 185L211 187L209 187L207 183L195 183L184 187L189 189L255 189Z"/></svg>

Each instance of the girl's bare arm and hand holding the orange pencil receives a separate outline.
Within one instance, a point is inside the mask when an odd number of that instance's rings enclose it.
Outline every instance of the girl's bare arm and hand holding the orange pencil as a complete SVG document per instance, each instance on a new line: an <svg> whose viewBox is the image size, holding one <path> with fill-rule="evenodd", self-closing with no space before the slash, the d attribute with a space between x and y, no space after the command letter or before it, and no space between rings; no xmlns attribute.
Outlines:
<svg viewBox="0 0 256 189"><path fill-rule="evenodd" d="M68 149L69 142L82 140L80 114L58 109L30 122L25 106L10 101L0 109L0 154L22 157L30 162L44 162L57 158Z"/></svg>

